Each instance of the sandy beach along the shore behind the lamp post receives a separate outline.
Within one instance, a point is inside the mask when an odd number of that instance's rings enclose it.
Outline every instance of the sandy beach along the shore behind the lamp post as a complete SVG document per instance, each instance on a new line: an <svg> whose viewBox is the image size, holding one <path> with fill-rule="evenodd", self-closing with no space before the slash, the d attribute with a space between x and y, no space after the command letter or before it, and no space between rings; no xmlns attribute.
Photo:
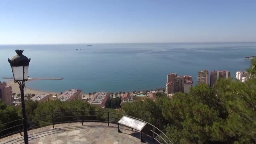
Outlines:
<svg viewBox="0 0 256 144"><path fill-rule="evenodd" d="M31 80L34 80L34 79L29 79L28 81L31 81ZM25 84L28 83L28 81L25 82ZM19 88L19 84L18 83L14 83L14 81L12 80L12 81L6 82L6 84L8 86L12 86L12 92L15 92L16 95L18 93L20 93L20 88ZM28 94L28 93L31 93L31 94L34 93L35 95L37 95L37 94L52 94L52 95L57 94L58 96L60 96L60 92L43 92L43 91L38 91L38 90L32 90L32 89L30 89L28 87L24 88L24 94ZM89 98L89 94L84 94L83 93L83 95L85 96L84 98ZM91 95L91 97L92 97L92 95Z"/></svg>

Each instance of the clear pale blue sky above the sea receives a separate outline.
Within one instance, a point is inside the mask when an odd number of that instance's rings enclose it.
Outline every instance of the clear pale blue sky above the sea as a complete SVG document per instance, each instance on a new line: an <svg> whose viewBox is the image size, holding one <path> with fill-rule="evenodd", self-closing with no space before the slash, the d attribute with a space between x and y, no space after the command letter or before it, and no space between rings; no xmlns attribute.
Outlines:
<svg viewBox="0 0 256 144"><path fill-rule="evenodd" d="M255 41L256 0L0 0L0 44Z"/></svg>

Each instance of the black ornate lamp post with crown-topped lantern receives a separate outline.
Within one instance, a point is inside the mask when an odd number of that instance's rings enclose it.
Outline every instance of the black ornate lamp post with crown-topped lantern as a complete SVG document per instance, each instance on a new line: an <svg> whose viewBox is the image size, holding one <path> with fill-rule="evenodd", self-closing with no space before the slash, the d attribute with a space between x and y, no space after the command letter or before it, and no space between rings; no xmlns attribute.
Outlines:
<svg viewBox="0 0 256 144"><path fill-rule="evenodd" d="M24 86L25 81L28 80L28 65L30 58L22 54L23 50L15 50L17 53L14 55L11 60L8 59L8 62L12 68L12 75L15 83L19 84L20 95L21 95L21 110L22 110L22 120L23 120L23 133L24 133L24 143L28 144L28 128L27 128L27 118L26 118L26 109L24 101Z"/></svg>

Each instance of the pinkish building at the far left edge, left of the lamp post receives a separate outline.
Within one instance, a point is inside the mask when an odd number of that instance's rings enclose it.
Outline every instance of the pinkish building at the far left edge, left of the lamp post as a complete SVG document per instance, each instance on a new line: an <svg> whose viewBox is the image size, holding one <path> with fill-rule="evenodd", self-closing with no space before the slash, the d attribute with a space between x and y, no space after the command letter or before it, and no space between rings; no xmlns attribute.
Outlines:
<svg viewBox="0 0 256 144"><path fill-rule="evenodd" d="M12 105L12 87L0 81L0 99L7 105Z"/></svg>

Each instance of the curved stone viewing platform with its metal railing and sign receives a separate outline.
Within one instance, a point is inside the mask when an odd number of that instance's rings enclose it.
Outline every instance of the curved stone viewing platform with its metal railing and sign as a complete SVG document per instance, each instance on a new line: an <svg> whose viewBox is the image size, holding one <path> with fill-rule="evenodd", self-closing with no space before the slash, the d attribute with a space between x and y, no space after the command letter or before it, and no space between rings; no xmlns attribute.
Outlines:
<svg viewBox="0 0 256 144"><path fill-rule="evenodd" d="M154 125L108 111L57 112L27 120L29 144L172 144ZM24 143L22 119L0 128L0 144Z"/></svg>

